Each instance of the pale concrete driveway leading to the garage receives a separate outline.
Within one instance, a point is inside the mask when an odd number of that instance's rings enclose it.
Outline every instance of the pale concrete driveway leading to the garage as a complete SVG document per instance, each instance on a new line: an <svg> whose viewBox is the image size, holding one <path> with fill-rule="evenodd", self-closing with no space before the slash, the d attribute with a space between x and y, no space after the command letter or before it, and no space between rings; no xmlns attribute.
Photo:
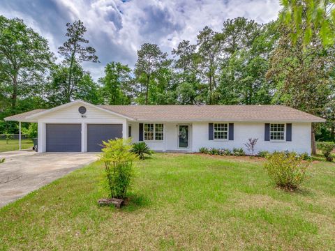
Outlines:
<svg viewBox="0 0 335 251"><path fill-rule="evenodd" d="M97 159L96 153L10 151L0 164L0 207Z"/></svg>

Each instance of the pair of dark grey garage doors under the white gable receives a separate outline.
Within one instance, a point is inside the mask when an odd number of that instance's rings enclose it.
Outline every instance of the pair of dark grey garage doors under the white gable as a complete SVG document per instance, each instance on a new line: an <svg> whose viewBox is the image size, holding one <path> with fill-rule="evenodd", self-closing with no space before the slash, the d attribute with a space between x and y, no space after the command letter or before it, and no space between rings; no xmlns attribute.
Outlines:
<svg viewBox="0 0 335 251"><path fill-rule="evenodd" d="M101 144L108 139L122 137L121 124L87 124L87 151L101 151ZM82 151L81 124L46 124L47 152Z"/></svg>

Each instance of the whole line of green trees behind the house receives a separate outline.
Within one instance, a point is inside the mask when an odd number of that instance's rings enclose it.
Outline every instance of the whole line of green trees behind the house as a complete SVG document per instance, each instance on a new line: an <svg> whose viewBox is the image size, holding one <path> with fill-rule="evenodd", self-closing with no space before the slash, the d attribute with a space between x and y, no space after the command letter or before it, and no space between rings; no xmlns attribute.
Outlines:
<svg viewBox="0 0 335 251"><path fill-rule="evenodd" d="M301 19L304 26L308 16ZM225 20L220 31L205 26L196 43L182 40L170 54L144 43L133 69L110 61L94 82L82 67L83 61L99 63L87 29L80 20L66 26L62 61L56 63L45 38L23 20L0 16L0 119L78 99L105 105L274 104L325 117L327 123L313 130L318 139L334 141L334 45L325 46L322 27L299 33L281 18L258 24L237 17ZM16 131L15 123L1 120L0 132L8 130Z"/></svg>

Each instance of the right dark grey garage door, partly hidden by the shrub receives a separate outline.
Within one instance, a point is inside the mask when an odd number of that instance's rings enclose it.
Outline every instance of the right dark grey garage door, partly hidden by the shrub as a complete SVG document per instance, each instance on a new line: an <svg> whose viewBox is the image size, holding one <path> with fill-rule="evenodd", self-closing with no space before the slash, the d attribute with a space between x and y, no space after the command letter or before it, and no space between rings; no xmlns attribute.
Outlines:
<svg viewBox="0 0 335 251"><path fill-rule="evenodd" d="M99 152L103 141L122 137L122 124L88 124L87 151Z"/></svg>

